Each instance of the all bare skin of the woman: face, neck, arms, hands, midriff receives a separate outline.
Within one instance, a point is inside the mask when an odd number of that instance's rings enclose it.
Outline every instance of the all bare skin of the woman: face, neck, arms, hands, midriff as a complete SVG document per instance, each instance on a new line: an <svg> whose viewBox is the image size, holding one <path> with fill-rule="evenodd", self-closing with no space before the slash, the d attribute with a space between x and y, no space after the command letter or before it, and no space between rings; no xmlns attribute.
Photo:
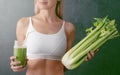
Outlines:
<svg viewBox="0 0 120 75"><path fill-rule="evenodd" d="M38 4L40 13L32 16L33 27L37 32L43 34L55 34L62 27L62 19L59 19L55 14L55 4L56 0L45 0L46 4L42 4L44 0L39 0L36 2ZM20 44L25 40L26 31L29 26L29 18L24 17L20 19L17 23L16 36L18 43ZM65 23L65 33L67 37L67 49L68 51L72 47L72 43L75 38L75 27L72 23ZM94 56L95 52L89 52L85 61L90 60ZM14 72L20 72L26 67L14 66L20 64L20 62L15 62L15 56L10 57L11 69ZM27 72L26 75L64 75L64 66L59 60L48 60L48 59L27 59Z"/></svg>

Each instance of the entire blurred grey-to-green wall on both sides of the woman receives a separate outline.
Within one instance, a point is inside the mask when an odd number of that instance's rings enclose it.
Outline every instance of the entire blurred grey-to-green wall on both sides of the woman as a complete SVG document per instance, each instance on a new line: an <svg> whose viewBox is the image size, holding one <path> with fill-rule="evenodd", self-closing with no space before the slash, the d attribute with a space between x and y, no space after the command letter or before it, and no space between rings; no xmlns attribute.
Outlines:
<svg viewBox="0 0 120 75"><path fill-rule="evenodd" d="M84 30L92 25L95 17L108 15L116 20L120 31L120 0L63 1L64 19L76 27L74 45L85 37ZM32 15L33 0L0 0L0 75L25 75L25 71L14 73L10 69L9 57L13 55L17 21ZM109 40L99 49L90 61L65 75L120 75L120 38Z"/></svg>

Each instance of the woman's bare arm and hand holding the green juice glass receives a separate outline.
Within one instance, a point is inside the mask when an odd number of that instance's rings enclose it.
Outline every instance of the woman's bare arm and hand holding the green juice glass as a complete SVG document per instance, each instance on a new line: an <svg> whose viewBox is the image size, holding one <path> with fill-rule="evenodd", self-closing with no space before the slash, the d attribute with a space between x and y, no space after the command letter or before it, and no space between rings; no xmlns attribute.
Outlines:
<svg viewBox="0 0 120 75"><path fill-rule="evenodd" d="M17 23L16 37L17 37L17 41L18 41L19 44L21 44L24 41L24 39L25 39L25 34L26 34L27 26L28 26L28 20L27 20L27 18L22 18ZM10 62L11 69L14 72L19 72L19 71L24 70L23 66L16 66L16 65L20 64L20 62L19 61L14 61L15 59L16 59L15 56L11 56L10 57L10 60L11 60L11 62Z"/></svg>

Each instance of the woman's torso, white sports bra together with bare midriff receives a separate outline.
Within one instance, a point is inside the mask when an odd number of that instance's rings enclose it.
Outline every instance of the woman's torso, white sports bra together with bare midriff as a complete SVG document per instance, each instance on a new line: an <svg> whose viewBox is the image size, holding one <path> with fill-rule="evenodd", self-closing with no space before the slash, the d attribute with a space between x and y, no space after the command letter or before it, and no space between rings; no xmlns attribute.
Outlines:
<svg viewBox="0 0 120 75"><path fill-rule="evenodd" d="M64 75L64 67L60 60L66 52L65 23L61 23L57 31L49 34L48 30L48 34L44 34L36 30L33 22L34 19L29 18L25 40L28 47L26 75ZM41 30L46 29L43 27Z"/></svg>

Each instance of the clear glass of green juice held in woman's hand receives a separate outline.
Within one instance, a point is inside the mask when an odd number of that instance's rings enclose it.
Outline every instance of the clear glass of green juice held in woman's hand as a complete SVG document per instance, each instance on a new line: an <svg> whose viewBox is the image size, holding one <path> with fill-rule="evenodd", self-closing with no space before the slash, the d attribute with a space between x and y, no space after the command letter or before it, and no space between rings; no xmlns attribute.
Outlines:
<svg viewBox="0 0 120 75"><path fill-rule="evenodd" d="M22 65L23 67L26 66L27 63L26 52L27 52L27 47L23 43L18 45L18 42L15 40L13 54L14 56L16 56L15 61L21 62L21 64L19 64L18 66L20 65Z"/></svg>

